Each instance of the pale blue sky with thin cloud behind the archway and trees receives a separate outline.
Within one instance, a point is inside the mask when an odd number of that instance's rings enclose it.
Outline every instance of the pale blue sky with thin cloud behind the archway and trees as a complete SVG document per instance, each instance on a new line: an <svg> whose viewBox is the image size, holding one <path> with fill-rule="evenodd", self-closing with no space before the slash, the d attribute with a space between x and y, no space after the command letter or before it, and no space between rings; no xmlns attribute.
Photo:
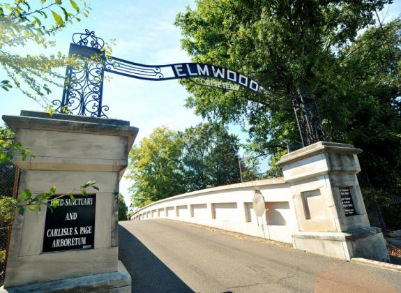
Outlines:
<svg viewBox="0 0 401 293"><path fill-rule="evenodd" d="M83 17L81 22L75 22L57 33L54 38L55 47L44 51L40 45L32 44L13 49L13 52L54 54L60 51L67 54L73 33L89 29L95 31L96 36L105 41L116 40L112 46L114 57L145 64L190 61L188 54L181 49L181 32L173 23L176 15L184 12L186 6L195 8L195 1L89 0L87 2L92 8L89 17ZM68 1L65 3L67 6ZM82 4L80 1L77 3ZM399 16L400 12L401 0L398 0L379 13L379 17L381 20L389 21ZM130 121L131 126L139 128L135 143L148 136L158 126L165 125L174 130L184 130L202 121L192 109L184 107L188 93L177 80L153 82L109 73L107 75L111 77L110 80L105 80L103 89L103 105L109 106L107 116ZM0 69L0 79L3 80L3 77L5 77L4 72ZM53 89L50 100L61 99L61 93L61 89ZM6 92L0 89L0 116L18 115L21 110L43 111L43 108L20 91L11 89ZM238 126L230 126L229 129L239 135L241 140L245 140L246 135ZM266 163L262 164L262 168L266 170ZM129 186L130 181L121 180L120 191L127 204L130 203Z"/></svg>

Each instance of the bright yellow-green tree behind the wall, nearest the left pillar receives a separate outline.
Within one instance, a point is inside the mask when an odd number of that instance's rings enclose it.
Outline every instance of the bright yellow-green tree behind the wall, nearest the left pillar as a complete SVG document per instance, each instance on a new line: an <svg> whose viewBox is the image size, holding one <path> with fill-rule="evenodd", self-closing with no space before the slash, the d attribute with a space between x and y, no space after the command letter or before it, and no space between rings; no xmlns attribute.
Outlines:
<svg viewBox="0 0 401 293"><path fill-rule="evenodd" d="M178 133L162 126L130 151L129 174L134 206L184 193L181 166L182 142Z"/></svg>

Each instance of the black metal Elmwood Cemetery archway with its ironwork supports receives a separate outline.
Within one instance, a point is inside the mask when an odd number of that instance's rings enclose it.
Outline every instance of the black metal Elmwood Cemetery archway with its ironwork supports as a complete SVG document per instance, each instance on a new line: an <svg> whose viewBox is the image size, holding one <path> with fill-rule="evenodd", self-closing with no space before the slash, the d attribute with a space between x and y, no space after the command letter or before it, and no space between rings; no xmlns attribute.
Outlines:
<svg viewBox="0 0 401 293"><path fill-rule="evenodd" d="M69 55L81 57L83 63L79 68L67 67L63 97L61 100L52 102L57 112L107 118L105 112L109 110L109 107L103 105L105 72L151 81L210 78L229 83L202 81L200 84L226 90L235 90L232 84L238 84L262 97L270 93L251 77L221 66L206 63L146 65L106 56L104 47L104 40L96 37L94 31L86 29L85 33L74 33ZM292 105L303 147L324 139L315 99L298 94L294 96Z"/></svg>

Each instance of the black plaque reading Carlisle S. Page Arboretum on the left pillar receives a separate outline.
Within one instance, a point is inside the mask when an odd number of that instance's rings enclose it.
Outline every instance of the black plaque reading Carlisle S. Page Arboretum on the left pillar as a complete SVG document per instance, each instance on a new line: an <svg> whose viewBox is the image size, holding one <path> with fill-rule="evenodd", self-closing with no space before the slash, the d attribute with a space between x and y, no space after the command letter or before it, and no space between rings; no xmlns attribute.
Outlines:
<svg viewBox="0 0 401 293"><path fill-rule="evenodd" d="M74 197L60 197L53 212L47 209L43 252L93 248L96 196Z"/></svg>

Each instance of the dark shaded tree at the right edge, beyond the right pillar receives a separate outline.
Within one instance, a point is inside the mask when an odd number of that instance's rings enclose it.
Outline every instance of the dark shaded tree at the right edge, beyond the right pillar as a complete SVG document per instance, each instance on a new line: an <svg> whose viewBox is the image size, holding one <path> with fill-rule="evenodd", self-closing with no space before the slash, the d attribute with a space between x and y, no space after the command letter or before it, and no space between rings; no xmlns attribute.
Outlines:
<svg viewBox="0 0 401 293"><path fill-rule="evenodd" d="M401 200L401 20L368 29L343 54L354 86L347 84L349 120L340 130L363 149L359 180L369 211L374 199L381 205ZM401 227L399 209L381 208L389 228Z"/></svg>

